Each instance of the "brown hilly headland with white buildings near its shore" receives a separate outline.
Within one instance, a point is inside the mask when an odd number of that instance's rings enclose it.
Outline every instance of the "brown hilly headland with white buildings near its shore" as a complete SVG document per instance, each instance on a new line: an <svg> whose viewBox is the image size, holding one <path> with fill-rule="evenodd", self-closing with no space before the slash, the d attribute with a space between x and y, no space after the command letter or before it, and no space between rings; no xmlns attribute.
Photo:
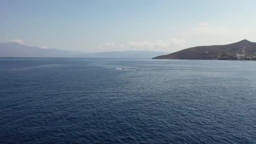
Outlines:
<svg viewBox="0 0 256 144"><path fill-rule="evenodd" d="M241 40L227 45L197 46L152 59L256 60L256 43Z"/></svg>

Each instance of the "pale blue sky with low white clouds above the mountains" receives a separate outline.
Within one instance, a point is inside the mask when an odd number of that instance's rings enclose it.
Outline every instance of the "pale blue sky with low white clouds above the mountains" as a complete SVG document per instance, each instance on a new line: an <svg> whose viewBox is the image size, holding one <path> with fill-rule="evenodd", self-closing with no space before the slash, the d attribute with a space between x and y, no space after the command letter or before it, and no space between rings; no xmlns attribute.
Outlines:
<svg viewBox="0 0 256 144"><path fill-rule="evenodd" d="M256 42L256 0L0 0L0 42L175 52Z"/></svg>

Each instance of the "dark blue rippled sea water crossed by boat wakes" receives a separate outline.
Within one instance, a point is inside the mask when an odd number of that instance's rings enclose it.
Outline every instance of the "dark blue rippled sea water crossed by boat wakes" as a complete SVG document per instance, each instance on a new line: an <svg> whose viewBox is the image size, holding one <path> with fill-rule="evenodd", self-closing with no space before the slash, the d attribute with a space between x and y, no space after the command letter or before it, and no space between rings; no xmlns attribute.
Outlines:
<svg viewBox="0 0 256 144"><path fill-rule="evenodd" d="M256 144L256 61L1 58L0 143Z"/></svg>

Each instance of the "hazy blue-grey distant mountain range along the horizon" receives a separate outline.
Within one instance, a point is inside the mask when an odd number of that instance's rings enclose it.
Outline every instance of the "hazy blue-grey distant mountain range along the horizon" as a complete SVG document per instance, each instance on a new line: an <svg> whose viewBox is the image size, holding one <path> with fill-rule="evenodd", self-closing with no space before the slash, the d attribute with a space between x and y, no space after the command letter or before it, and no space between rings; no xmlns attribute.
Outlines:
<svg viewBox="0 0 256 144"><path fill-rule="evenodd" d="M83 53L79 51L62 51L54 48L39 48L19 43L0 43L0 57L87 57L87 58L152 58L168 54L160 51L110 51Z"/></svg>

